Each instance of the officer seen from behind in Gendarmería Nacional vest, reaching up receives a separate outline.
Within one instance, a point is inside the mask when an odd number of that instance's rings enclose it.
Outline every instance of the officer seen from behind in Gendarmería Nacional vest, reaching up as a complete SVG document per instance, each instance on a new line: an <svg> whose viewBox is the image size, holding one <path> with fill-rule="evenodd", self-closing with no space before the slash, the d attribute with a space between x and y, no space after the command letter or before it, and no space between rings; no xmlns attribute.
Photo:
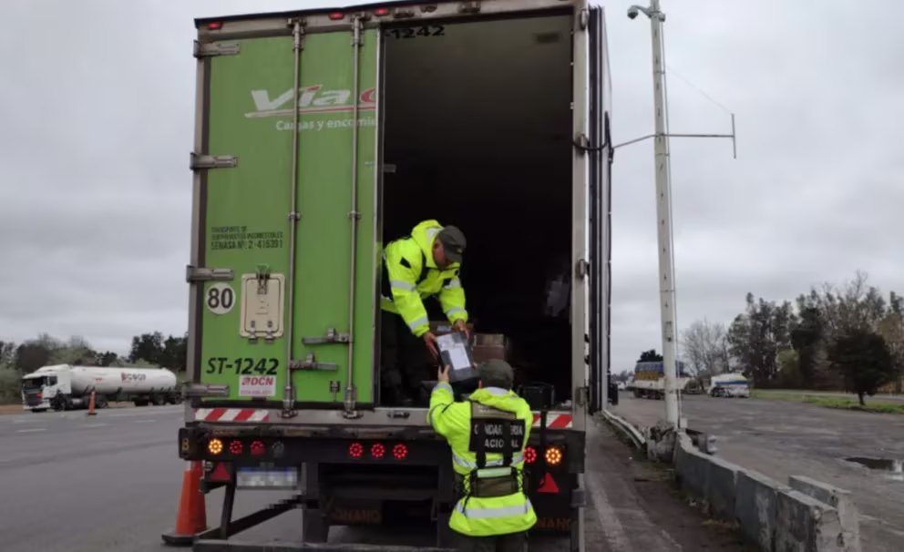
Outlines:
<svg viewBox="0 0 904 552"><path fill-rule="evenodd" d="M458 501L449 527L459 550L525 552L537 523L525 494L524 449L533 414L512 390L514 374L501 360L478 366L479 388L455 402L447 366L430 395L427 422L452 448Z"/></svg>

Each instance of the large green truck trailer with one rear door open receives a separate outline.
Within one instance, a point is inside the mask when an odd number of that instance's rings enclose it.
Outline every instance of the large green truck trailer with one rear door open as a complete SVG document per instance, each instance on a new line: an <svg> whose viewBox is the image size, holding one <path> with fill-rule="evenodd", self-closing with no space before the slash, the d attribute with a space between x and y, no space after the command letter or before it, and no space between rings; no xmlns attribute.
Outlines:
<svg viewBox="0 0 904 552"><path fill-rule="evenodd" d="M584 550L585 434L617 400L602 8L397 2L195 26L178 439L180 458L202 466L201 491L224 496L220 525L192 535L194 548L231 549L295 509L306 543L327 542L331 526L421 523L450 545L449 447L423 404L381 397L379 370L383 246L439 220L467 235L459 276L475 332L504 334L519 359L534 530ZM561 260L567 305L550 315ZM233 519L240 489L286 497Z"/></svg>

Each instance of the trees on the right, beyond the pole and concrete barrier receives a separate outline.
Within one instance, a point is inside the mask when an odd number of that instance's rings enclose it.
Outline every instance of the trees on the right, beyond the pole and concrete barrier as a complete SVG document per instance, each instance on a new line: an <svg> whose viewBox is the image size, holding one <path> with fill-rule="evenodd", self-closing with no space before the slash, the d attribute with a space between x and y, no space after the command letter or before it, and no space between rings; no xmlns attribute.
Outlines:
<svg viewBox="0 0 904 552"><path fill-rule="evenodd" d="M759 387L901 392L904 299L868 285L858 271L842 285L811 287L794 302L747 293L745 311L727 325L693 322L681 333L694 373L744 373Z"/></svg>

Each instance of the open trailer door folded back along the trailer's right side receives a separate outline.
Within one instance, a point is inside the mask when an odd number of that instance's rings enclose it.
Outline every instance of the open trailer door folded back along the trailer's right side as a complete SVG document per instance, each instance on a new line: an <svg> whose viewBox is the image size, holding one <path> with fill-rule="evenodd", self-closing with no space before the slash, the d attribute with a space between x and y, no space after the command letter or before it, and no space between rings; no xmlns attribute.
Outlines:
<svg viewBox="0 0 904 552"><path fill-rule="evenodd" d="M610 384L611 291L611 83L605 19L591 6L590 21L590 394L591 413L618 403L618 388Z"/></svg>

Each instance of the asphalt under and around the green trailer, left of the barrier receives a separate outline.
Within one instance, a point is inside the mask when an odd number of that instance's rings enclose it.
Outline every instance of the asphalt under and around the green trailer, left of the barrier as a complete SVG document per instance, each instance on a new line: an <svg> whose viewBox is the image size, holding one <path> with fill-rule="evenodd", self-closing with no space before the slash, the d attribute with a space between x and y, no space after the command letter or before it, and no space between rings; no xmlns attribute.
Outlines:
<svg viewBox="0 0 904 552"><path fill-rule="evenodd" d="M171 550L160 533L175 521L182 470L176 435L181 406L0 415L0 535L5 552ZM632 460L633 451L605 426L590 434L587 550L740 550L679 503L662 472ZM221 490L207 496L207 521L220 518ZM286 496L244 492L235 516ZM237 538L293 541L299 516L288 513ZM337 542L425 546L429 527L404 535L337 527ZM566 550L562 539L532 538L531 550Z"/></svg>

